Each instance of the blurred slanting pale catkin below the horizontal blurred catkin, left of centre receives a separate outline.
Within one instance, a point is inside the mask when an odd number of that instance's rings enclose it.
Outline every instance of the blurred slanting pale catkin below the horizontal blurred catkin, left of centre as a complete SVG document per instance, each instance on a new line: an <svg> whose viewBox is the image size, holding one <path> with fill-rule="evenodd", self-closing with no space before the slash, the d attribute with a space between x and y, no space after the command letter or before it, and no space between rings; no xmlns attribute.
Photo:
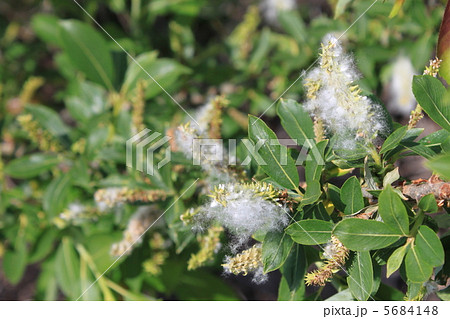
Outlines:
<svg viewBox="0 0 450 319"><path fill-rule="evenodd" d="M155 206L141 206L131 216L127 229L123 233L123 239L111 246L110 254L118 257L131 254L134 245L142 243L143 234L155 221Z"/></svg>

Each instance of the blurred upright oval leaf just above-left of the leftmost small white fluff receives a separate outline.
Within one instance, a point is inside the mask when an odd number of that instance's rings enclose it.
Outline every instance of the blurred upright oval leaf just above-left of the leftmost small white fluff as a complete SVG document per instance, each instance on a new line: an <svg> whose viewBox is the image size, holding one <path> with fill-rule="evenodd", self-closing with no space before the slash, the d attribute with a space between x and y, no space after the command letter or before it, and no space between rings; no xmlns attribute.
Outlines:
<svg viewBox="0 0 450 319"><path fill-rule="evenodd" d="M63 174L54 179L46 188L42 205L47 213L48 218L53 218L57 214L62 213L62 210L67 204L68 195L71 187L71 174Z"/></svg>

